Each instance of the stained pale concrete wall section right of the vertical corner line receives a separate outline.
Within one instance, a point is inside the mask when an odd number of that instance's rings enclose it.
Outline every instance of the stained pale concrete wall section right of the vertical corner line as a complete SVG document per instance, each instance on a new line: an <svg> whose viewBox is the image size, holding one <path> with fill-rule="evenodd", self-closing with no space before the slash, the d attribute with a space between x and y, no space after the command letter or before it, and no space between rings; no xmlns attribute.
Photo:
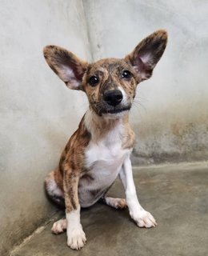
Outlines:
<svg viewBox="0 0 208 256"><path fill-rule="evenodd" d="M134 163L208 159L208 2L84 1L93 58L122 58L148 34L169 33L131 111Z"/></svg>

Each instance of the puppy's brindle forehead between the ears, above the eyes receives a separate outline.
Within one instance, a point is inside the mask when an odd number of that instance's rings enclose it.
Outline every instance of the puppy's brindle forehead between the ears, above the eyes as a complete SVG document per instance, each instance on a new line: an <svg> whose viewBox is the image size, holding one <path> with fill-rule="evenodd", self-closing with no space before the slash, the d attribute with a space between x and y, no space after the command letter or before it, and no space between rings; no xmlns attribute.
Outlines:
<svg viewBox="0 0 208 256"><path fill-rule="evenodd" d="M126 62L122 58L104 58L98 62L91 63L88 66L87 74L92 74L96 71L108 71L112 72L114 70L130 69L130 63Z"/></svg>

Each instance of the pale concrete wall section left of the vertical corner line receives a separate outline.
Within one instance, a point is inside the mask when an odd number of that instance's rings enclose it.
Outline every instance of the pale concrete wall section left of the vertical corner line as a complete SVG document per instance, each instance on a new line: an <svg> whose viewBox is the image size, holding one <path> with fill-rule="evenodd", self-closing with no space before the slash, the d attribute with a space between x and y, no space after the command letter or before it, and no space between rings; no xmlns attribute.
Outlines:
<svg viewBox="0 0 208 256"><path fill-rule="evenodd" d="M54 207L46 173L87 108L42 55L47 44L90 60L82 1L14 0L0 6L0 254L30 234Z"/></svg>

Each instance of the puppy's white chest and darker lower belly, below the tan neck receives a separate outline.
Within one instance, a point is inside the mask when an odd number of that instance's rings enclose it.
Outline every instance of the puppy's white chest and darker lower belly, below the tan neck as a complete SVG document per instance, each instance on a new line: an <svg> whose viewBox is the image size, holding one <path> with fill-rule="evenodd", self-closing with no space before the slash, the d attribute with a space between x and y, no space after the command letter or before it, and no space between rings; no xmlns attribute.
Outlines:
<svg viewBox="0 0 208 256"><path fill-rule="evenodd" d="M79 202L82 207L91 206L102 198L117 178L129 150L121 143L106 145L91 143L86 150L86 174L79 181Z"/></svg>

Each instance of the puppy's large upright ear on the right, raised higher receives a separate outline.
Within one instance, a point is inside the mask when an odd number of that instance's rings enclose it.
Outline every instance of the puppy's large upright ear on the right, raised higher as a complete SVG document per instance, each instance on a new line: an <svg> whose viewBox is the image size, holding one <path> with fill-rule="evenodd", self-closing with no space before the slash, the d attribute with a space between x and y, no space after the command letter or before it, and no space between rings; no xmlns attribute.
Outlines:
<svg viewBox="0 0 208 256"><path fill-rule="evenodd" d="M166 43L166 30L158 30L144 38L133 52L126 56L125 59L134 66L140 81L151 77L154 66L166 49Z"/></svg>

